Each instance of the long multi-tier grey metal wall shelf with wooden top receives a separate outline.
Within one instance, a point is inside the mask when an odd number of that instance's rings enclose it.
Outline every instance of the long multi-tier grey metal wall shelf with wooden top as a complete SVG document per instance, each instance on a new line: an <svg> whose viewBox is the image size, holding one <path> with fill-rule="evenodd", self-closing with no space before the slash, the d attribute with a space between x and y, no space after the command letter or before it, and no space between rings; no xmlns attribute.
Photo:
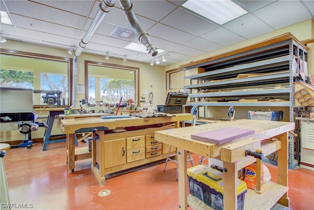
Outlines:
<svg viewBox="0 0 314 210"><path fill-rule="evenodd" d="M199 117L203 118L219 118L226 114L222 112L225 112L227 107L235 106L235 110L240 110L236 112L235 120L247 119L247 112L252 109L282 109L284 120L293 122L292 83L295 78L292 66L293 61L299 64L300 60L308 60L308 48L292 34L286 33L234 51L187 63L182 66L184 90L189 93L186 106L199 106ZM193 71L194 68L204 71L198 73L200 71ZM239 99L258 101L239 102ZM293 148L291 136L289 168L295 167Z"/></svg>

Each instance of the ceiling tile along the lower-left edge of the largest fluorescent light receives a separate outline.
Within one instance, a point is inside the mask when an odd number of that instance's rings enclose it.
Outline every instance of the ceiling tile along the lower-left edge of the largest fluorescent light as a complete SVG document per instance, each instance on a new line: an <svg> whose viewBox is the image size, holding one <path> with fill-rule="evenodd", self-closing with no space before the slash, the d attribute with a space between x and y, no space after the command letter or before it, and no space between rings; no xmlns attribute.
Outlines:
<svg viewBox="0 0 314 210"><path fill-rule="evenodd" d="M170 15L161 20L160 23L196 36L218 27L182 8L173 11Z"/></svg>

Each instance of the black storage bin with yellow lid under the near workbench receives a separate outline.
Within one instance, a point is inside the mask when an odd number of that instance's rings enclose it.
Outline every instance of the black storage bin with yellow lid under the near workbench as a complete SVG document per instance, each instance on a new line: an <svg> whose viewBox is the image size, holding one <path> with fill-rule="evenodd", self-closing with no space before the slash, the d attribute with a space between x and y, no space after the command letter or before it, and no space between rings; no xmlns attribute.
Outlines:
<svg viewBox="0 0 314 210"><path fill-rule="evenodd" d="M214 210L223 210L223 173L204 165L187 169L190 194ZM244 209L246 183L237 180L237 209Z"/></svg>

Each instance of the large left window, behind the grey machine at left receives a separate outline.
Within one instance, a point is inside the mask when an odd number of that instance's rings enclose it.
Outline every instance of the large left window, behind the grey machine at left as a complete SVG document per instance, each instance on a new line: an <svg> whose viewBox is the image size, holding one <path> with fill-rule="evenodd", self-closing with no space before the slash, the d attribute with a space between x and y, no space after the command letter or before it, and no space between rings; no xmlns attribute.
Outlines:
<svg viewBox="0 0 314 210"><path fill-rule="evenodd" d="M33 89L35 106L56 105L47 104L45 98L48 94L57 98L58 91L61 105L70 105L71 72L72 59L1 49L0 87Z"/></svg>

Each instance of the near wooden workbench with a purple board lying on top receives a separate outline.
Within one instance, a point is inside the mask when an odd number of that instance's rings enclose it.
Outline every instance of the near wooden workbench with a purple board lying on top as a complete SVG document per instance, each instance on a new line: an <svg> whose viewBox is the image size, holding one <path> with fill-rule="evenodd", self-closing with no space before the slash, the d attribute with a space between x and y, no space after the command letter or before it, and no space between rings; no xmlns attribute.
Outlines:
<svg viewBox="0 0 314 210"><path fill-rule="evenodd" d="M190 138L191 134L216 130L224 127L254 129L255 133L223 145L215 145ZM245 194L244 209L270 209L276 203L289 206L288 198L288 131L294 129L293 122L264 120L234 120L211 124L184 127L155 132L155 139L178 148L179 162L179 209L191 206L195 209L206 209L203 202L192 195L187 196L188 182L186 176L187 151L218 158L224 167L224 202L226 210L237 209L237 171L253 163L256 159L245 156L245 150L255 151L262 148L264 155L278 150L278 183L267 182L262 186L262 194L248 189ZM268 141L261 145L261 140L272 137L278 141Z"/></svg>

